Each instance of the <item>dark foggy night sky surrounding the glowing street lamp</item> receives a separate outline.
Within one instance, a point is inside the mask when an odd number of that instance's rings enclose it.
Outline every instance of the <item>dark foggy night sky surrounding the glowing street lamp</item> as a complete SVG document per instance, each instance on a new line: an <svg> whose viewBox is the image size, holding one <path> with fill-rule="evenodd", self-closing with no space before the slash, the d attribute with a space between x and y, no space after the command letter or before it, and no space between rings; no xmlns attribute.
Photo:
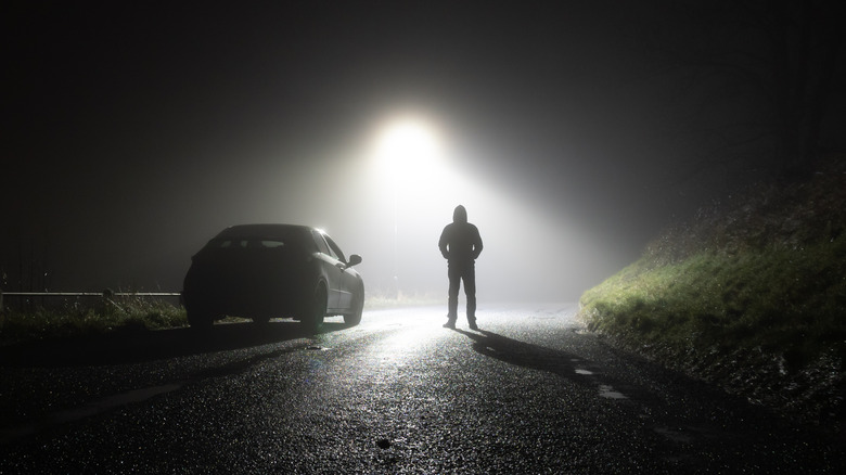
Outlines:
<svg viewBox="0 0 846 475"><path fill-rule="evenodd" d="M292 222L362 255L371 294L396 272L446 296L437 238L463 204L480 299L571 300L759 178L680 131L707 97L674 66L719 30L690 23L712 2L13 3L7 291L178 292L225 227ZM390 176L374 143L409 117L437 164Z"/></svg>

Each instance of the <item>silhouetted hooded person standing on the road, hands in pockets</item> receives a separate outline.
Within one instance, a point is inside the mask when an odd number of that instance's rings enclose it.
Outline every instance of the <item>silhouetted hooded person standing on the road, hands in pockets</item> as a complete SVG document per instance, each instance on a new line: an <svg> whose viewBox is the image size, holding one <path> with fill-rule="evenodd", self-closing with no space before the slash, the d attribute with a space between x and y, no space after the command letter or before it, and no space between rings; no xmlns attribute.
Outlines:
<svg viewBox="0 0 846 475"><path fill-rule="evenodd" d="M449 262L449 313L446 329L454 329L458 319L458 291L464 281L464 295L467 296L467 323L472 330L476 326L476 258L482 253L482 238L478 228L467 222L467 210L456 206L452 223L444 228L438 241L440 254Z"/></svg>

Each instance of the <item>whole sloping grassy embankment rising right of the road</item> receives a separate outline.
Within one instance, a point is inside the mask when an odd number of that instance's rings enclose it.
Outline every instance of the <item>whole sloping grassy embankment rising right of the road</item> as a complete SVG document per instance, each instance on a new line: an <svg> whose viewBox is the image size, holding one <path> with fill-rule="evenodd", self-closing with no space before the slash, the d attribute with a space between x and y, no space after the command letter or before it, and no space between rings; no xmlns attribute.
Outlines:
<svg viewBox="0 0 846 475"><path fill-rule="evenodd" d="M586 292L590 329L805 421L844 421L846 158L666 230ZM838 424L839 425L839 424Z"/></svg>

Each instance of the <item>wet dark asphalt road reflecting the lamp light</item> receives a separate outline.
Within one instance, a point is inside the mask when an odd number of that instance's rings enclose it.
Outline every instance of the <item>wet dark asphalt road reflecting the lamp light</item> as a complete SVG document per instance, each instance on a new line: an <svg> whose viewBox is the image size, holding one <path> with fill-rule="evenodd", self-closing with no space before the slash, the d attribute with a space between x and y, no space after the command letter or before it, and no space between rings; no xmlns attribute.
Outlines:
<svg viewBox="0 0 846 475"><path fill-rule="evenodd" d="M574 305L0 350L0 473L842 473L842 441L605 345ZM333 322L335 320L329 320ZM463 323L463 325L462 325Z"/></svg>

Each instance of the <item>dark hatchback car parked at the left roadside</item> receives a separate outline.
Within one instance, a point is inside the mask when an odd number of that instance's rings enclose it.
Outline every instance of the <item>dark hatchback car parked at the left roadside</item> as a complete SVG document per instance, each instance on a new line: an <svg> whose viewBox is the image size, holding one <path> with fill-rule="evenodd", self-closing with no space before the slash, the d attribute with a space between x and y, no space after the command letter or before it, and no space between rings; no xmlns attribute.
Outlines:
<svg viewBox="0 0 846 475"><path fill-rule="evenodd" d="M300 320L317 331L328 316L358 324L364 283L321 230L294 224L242 224L225 229L192 257L182 301L191 326L207 328L225 316L266 323Z"/></svg>

